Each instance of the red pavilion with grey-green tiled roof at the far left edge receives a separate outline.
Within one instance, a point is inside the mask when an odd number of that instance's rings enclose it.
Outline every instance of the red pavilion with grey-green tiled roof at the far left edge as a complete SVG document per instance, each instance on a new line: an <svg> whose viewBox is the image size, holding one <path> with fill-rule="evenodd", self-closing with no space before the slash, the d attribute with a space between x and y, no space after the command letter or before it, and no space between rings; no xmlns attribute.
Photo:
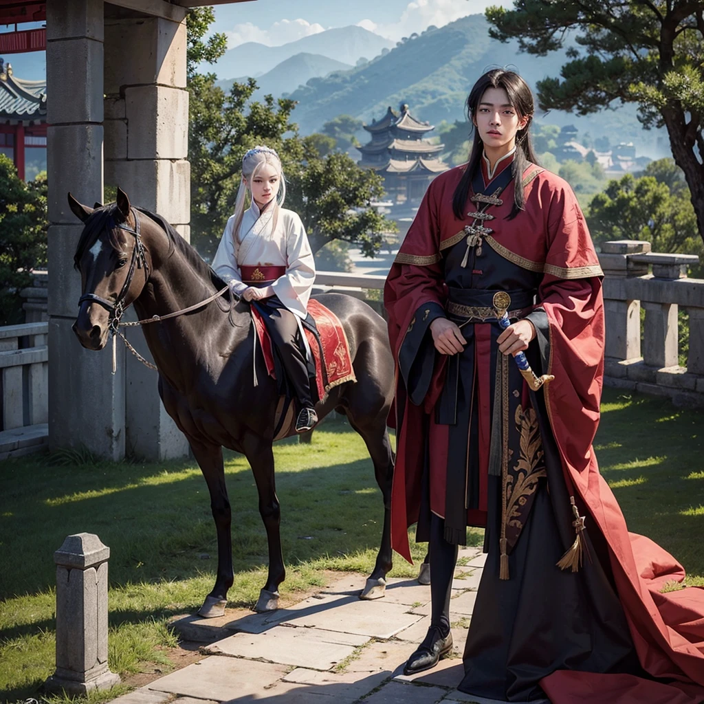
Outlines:
<svg viewBox="0 0 704 704"><path fill-rule="evenodd" d="M46 170L46 80L15 77L1 58L0 153L12 159L21 179Z"/></svg>

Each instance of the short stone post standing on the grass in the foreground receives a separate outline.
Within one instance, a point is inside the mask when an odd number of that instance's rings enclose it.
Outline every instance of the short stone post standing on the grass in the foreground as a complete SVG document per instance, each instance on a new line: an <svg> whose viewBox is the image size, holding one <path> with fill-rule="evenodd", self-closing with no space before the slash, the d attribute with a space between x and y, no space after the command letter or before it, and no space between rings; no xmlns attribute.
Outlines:
<svg viewBox="0 0 704 704"><path fill-rule="evenodd" d="M108 669L110 548L90 533L70 535L56 562L56 672L46 689L85 694L109 689L120 677Z"/></svg>

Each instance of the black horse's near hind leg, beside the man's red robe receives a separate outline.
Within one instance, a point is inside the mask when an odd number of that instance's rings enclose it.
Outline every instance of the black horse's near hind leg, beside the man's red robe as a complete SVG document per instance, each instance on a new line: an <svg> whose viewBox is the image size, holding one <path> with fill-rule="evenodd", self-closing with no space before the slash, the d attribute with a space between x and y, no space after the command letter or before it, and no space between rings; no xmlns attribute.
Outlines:
<svg viewBox="0 0 704 704"><path fill-rule="evenodd" d="M386 415L376 417L372 422L361 424L348 411L350 425L362 436L374 463L374 474L384 498L384 529L382 544L377 554L374 571L367 579L361 599L378 599L386 591L386 574L392 567L391 553L391 482L394 478L394 451L391 449L389 433L386 432Z"/></svg>

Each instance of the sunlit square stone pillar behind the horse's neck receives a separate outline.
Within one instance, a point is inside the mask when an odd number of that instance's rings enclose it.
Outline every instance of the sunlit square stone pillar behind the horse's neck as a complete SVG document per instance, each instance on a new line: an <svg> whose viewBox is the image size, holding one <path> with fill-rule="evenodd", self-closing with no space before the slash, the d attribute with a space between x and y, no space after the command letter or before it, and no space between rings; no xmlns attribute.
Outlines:
<svg viewBox="0 0 704 704"><path fill-rule="evenodd" d="M175 8L173 16L106 20L105 176L188 240L185 11ZM140 329L130 328L127 337L152 360ZM186 455L187 441L158 396L156 372L132 355L126 370L127 452L152 460Z"/></svg>

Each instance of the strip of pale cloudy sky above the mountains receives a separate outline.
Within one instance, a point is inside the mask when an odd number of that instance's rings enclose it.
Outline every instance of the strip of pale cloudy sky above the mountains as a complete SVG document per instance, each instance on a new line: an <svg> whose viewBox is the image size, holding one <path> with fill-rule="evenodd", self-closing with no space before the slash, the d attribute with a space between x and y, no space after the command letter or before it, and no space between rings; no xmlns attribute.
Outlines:
<svg viewBox="0 0 704 704"><path fill-rule="evenodd" d="M211 30L227 34L228 48L244 42L279 46L328 30L360 25L397 42L429 25L442 27L508 0L251 0L215 7Z"/></svg>

